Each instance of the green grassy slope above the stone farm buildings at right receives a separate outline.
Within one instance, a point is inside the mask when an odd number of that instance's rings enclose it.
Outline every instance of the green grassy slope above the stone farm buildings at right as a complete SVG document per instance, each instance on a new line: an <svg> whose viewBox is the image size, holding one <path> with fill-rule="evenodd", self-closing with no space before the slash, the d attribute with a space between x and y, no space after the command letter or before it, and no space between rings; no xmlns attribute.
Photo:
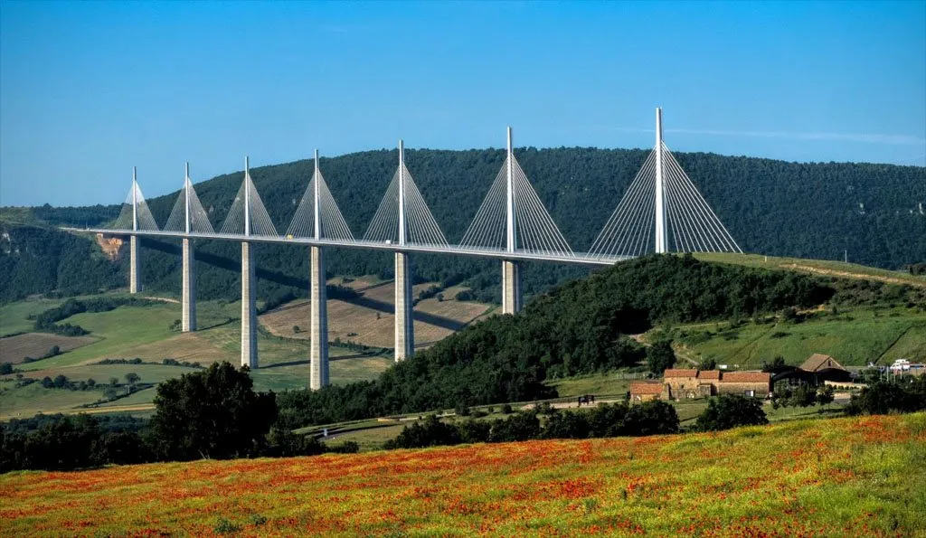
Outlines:
<svg viewBox="0 0 926 538"><path fill-rule="evenodd" d="M713 358L718 364L758 368L763 361L784 357L799 365L814 353L836 358L844 366L869 362L889 364L895 358L926 359L926 315L895 308L876 311L858 308L839 316L824 315L803 323L698 324L678 327L677 332L710 332L707 341L680 338L680 354L695 361Z"/></svg>

